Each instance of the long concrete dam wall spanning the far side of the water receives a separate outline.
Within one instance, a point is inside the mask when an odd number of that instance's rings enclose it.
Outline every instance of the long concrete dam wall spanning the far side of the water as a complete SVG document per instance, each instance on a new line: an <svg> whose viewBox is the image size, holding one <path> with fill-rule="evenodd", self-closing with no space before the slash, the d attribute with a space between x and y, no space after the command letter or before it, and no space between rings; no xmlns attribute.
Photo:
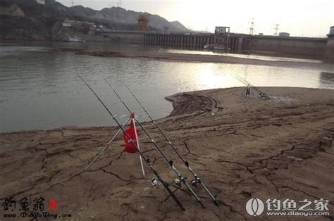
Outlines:
<svg viewBox="0 0 334 221"><path fill-rule="evenodd" d="M268 56L314 58L333 62L333 30L328 37L290 37L251 35L226 32L229 27L216 27L215 33L163 33L111 30L103 33L111 42L144 44L172 49L202 50L204 45L226 46L230 53L254 53Z"/></svg>

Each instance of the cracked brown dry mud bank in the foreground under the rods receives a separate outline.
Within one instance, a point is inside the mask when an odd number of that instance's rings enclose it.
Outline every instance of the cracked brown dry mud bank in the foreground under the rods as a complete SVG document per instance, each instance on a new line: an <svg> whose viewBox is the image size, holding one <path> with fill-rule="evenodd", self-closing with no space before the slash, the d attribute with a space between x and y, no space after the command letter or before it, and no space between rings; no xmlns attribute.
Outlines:
<svg viewBox="0 0 334 221"><path fill-rule="evenodd" d="M262 88L276 99L243 99L241 88L176 94L173 113L157 120L171 141L221 203L214 206L201 188L202 209L185 187L175 189L182 212L137 154L123 153L123 137L96 163L85 166L116 127L66 127L0 134L0 199L56 198L58 213L80 220L248 220L251 197L327 198L334 214L333 90ZM285 98L285 99L282 99ZM144 123L184 175L192 177L151 123ZM140 134L141 148L163 179L175 174ZM3 211L1 211L3 213ZM0 214L3 217L2 214ZM296 220L295 217L262 219ZM317 217L317 220L332 220ZM311 217L299 220L312 220Z"/></svg>

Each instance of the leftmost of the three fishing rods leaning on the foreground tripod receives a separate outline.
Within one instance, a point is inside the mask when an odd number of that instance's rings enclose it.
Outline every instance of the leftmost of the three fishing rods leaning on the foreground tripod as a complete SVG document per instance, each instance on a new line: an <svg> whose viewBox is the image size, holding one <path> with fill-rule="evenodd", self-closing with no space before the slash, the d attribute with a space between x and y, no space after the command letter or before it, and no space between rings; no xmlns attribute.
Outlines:
<svg viewBox="0 0 334 221"><path fill-rule="evenodd" d="M78 75L78 77L80 77ZM133 146L135 146L136 151L138 151L138 153L140 154L140 156L142 156L142 158L144 159L144 161L147 163L147 166L149 167L149 170L151 170L151 172L154 173L154 175L156 176L156 179L159 180L159 182L163 185L163 187L166 189L166 191L168 191L168 194L173 198L173 200L175 201L175 203L178 204L178 206L180 206L181 210L185 210L185 208L183 207L182 203L178 200L178 198L175 196L174 192L171 191L171 189L169 188L169 184L164 182L163 179L160 177L159 173L154 170L153 166L150 163L149 158L147 158L146 156L144 156L144 154L142 153L142 151L140 151L140 149L138 149L137 145L132 141L132 139L129 137L129 135L125 132L125 130L123 129L123 127L120 125L120 123L118 122L118 120L116 120L115 116L113 115L113 113L111 113L111 111L109 110L109 108L106 107L106 105L104 104L104 102L99 98L99 96L97 96L97 94L95 93L95 91L92 89L92 87L89 86L89 84L87 82L85 82L85 80L82 79L82 77L80 77L80 79L82 80L82 82L84 82L86 84L86 86L92 91L92 93L94 94L94 96L97 97L97 100L99 100L99 102L102 104L102 106L104 106L104 108L106 109L106 111L108 111L109 115L111 116L111 118L113 118L113 120L116 122L116 124L118 125L118 127L120 127L120 130L122 130L123 134L129 139L129 141L131 142L131 144Z"/></svg>

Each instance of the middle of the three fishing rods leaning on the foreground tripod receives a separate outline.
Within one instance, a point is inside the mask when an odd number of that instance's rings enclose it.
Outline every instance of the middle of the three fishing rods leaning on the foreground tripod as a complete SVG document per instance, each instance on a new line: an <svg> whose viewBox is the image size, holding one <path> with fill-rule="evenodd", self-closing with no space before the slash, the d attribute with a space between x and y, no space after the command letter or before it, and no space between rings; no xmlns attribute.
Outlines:
<svg viewBox="0 0 334 221"><path fill-rule="evenodd" d="M104 81L109 85L109 87L113 90L113 93L116 94L116 96L118 97L118 99L120 100L121 103L123 103L123 105L125 106L125 108L129 111L129 113L132 113L132 111L130 110L130 108L126 105L126 103L123 101L123 99L120 98L119 94L117 93L117 91L115 89L113 89L113 87L111 86L111 84L109 84L109 82L104 79ZM147 113L147 115L149 115ZM163 156L163 158L166 160L166 162L168 163L168 165L171 166L171 168L173 169L173 171L175 172L176 175L178 175L178 178L180 180L181 183L185 184L185 187L187 187L187 189L189 189L189 191L192 193L192 196L194 196L194 198L196 198L197 203L199 203L203 208L205 208L205 206L203 205L201 199L199 198L199 196L197 196L197 194L194 192L194 190L192 189L192 187L190 187L190 185L185 181L185 177L183 177L183 175L181 175L181 173L175 168L175 166L173 165L173 160L169 160L167 158L167 156L163 153L163 151L161 151L160 147L158 146L158 144L156 144L156 141L154 141L151 136L149 135L149 133L147 132L147 130L144 129L144 127L142 126L142 124L140 123L139 120L135 119L136 122L138 123L138 125L140 125L140 127L142 128L142 130L144 131L144 133L147 135L147 137L149 138L149 140L151 141L152 144L154 144L154 146L156 147L156 149L159 151L159 153L161 154L161 156Z"/></svg>

